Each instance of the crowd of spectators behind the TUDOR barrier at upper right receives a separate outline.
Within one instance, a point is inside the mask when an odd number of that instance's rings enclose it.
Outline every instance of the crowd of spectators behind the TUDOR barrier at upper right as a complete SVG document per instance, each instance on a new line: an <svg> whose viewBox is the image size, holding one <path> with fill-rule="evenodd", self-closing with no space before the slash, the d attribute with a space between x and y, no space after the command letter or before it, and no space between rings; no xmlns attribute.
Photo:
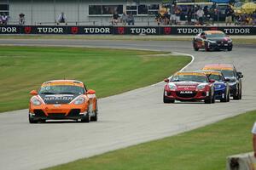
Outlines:
<svg viewBox="0 0 256 170"><path fill-rule="evenodd" d="M253 14L237 13L233 4L224 8L224 23L226 26L252 26L256 25L256 11ZM158 26L213 26L220 21L222 11L216 3L207 5L162 5L157 14L155 22Z"/></svg>

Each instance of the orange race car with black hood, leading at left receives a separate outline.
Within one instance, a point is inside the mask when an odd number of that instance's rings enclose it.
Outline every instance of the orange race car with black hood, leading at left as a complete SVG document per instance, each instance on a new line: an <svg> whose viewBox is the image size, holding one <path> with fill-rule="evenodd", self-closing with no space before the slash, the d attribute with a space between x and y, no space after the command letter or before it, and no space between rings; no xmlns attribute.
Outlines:
<svg viewBox="0 0 256 170"><path fill-rule="evenodd" d="M81 122L97 121L96 92L85 88L76 80L44 82L38 90L30 92L28 120L30 123L55 119Z"/></svg>

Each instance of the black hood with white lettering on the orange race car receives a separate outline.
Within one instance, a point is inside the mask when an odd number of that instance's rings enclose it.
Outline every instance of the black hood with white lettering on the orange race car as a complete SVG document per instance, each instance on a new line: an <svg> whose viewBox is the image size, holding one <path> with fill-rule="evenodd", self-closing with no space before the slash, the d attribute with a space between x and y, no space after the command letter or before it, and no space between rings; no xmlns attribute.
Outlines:
<svg viewBox="0 0 256 170"><path fill-rule="evenodd" d="M45 104L68 104L80 94L39 94Z"/></svg>

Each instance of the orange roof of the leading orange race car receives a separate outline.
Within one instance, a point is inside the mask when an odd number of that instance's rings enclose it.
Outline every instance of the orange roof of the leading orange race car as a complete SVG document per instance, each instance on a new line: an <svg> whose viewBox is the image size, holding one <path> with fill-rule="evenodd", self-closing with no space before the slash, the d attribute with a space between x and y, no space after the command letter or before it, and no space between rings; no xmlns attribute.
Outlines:
<svg viewBox="0 0 256 170"><path fill-rule="evenodd" d="M80 82L80 81L77 81L77 80L51 80L51 81L48 81L48 82L44 82L42 84L42 87L44 86L61 86L61 85L64 85L64 86L79 86L79 87L84 87L84 83L83 82Z"/></svg>

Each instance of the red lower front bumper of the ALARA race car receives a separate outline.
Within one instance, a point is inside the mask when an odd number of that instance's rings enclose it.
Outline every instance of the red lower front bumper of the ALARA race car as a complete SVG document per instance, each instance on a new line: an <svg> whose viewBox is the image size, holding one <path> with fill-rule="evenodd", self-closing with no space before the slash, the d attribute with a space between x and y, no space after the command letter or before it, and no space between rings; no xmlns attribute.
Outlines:
<svg viewBox="0 0 256 170"><path fill-rule="evenodd" d="M165 96L168 99L175 99L180 101L200 101L209 99L209 92L207 91L192 91L191 94L182 94L183 91L165 91Z"/></svg>

